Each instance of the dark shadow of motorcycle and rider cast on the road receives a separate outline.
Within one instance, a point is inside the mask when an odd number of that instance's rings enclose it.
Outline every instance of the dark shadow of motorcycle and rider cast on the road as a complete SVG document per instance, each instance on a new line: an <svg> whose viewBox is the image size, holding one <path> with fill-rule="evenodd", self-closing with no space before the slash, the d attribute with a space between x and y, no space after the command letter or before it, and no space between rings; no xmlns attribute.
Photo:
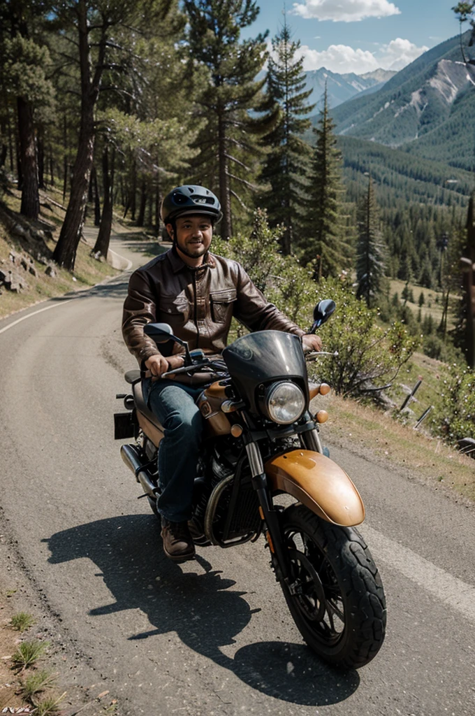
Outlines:
<svg viewBox="0 0 475 716"><path fill-rule="evenodd" d="M303 644L257 642L234 658L220 647L249 624L253 610L235 581L212 569L201 555L195 572L184 574L162 553L158 522L152 516L99 520L54 534L51 563L88 557L101 570L116 601L88 613L141 609L153 629L129 639L149 639L177 632L190 649L230 669L255 690L300 705L328 705L346 700L357 688L356 671L338 672L320 662ZM190 569L190 566L187 566ZM256 610L259 611L259 610ZM288 615L290 619L290 614Z"/></svg>

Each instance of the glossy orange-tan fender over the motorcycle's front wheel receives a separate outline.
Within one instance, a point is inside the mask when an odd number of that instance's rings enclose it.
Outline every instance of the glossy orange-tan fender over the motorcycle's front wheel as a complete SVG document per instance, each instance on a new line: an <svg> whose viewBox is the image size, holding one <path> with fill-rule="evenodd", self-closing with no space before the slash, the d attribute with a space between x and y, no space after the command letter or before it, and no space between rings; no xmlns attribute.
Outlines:
<svg viewBox="0 0 475 716"><path fill-rule="evenodd" d="M291 450L264 465L271 490L295 497L327 522L353 527L363 522L365 508L346 472L325 455Z"/></svg>

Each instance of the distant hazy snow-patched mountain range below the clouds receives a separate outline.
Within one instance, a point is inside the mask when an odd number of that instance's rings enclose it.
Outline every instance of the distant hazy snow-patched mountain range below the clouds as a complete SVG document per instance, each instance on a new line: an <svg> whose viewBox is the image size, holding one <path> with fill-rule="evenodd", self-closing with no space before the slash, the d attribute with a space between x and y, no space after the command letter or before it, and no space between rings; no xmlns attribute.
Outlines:
<svg viewBox="0 0 475 716"><path fill-rule="evenodd" d="M308 98L308 103L317 105L320 109L322 106L323 92L325 92L325 84L328 91L328 103L330 107L338 107L342 102L350 100L360 92L376 92L377 89L383 87L383 84L391 79L396 72L388 69L376 69L366 74L355 74L347 72L339 74L331 72L325 67L320 69L312 69L305 72L305 80L307 89L312 89L312 94Z"/></svg>

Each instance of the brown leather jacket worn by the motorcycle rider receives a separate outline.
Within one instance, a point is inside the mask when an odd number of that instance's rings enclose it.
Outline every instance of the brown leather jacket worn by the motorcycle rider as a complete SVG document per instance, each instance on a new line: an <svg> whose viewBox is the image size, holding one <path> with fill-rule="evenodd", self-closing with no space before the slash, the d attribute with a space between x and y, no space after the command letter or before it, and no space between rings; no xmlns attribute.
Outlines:
<svg viewBox="0 0 475 716"><path fill-rule="evenodd" d="M190 350L219 354L226 347L232 316L250 331L305 333L265 300L237 261L207 253L203 266L190 269L171 248L130 277L122 334L142 367L150 356L160 354L144 334L145 324L170 324ZM162 354L168 357L170 352L182 353L183 349L177 343L170 349L164 344Z"/></svg>

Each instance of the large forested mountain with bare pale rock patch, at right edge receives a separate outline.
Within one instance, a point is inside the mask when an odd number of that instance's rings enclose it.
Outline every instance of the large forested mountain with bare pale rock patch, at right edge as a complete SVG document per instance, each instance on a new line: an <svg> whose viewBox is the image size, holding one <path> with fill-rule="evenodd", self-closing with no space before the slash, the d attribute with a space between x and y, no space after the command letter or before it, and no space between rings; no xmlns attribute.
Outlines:
<svg viewBox="0 0 475 716"><path fill-rule="evenodd" d="M461 62L459 43L442 42L371 95L336 107L336 132L473 170L475 67Z"/></svg>

